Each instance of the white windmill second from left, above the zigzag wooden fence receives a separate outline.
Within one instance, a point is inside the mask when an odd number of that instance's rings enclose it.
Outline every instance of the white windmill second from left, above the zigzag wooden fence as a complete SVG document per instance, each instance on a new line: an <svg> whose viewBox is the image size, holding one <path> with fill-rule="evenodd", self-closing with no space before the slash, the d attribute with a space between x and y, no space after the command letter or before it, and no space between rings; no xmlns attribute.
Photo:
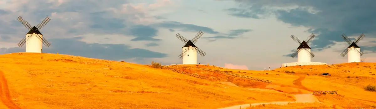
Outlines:
<svg viewBox="0 0 376 109"><path fill-rule="evenodd" d="M200 31L195 37L193 37L192 40L187 40L179 33L176 34L176 37L185 43L182 53L179 55L180 59L183 59L183 64L197 64L197 53L199 53L202 57L206 55L205 52L194 45L202 34L204 34L204 32Z"/></svg>

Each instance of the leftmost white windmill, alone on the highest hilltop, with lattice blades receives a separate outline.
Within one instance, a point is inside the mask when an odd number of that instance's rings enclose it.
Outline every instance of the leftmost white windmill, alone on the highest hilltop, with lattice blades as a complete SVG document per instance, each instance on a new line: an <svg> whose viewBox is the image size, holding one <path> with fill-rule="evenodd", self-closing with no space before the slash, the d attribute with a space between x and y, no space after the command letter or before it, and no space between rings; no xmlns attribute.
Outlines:
<svg viewBox="0 0 376 109"><path fill-rule="evenodd" d="M26 37L24 37L17 45L19 47L22 47L24 44L26 44L26 52L31 53L42 53L42 43L49 47L51 43L47 41L42 33L39 31L46 25L51 19L47 16L41 23L39 23L36 27L32 27L28 22L26 22L25 19L23 19L21 16L18 16L18 21L21 22L22 25L24 25L27 29L29 29L29 32L26 33Z"/></svg>

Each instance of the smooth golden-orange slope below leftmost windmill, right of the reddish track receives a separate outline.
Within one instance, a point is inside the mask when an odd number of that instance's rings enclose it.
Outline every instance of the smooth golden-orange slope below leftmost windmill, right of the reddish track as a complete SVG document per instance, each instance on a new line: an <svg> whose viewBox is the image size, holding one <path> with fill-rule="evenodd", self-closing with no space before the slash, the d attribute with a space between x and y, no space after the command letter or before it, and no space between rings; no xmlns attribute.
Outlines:
<svg viewBox="0 0 376 109"><path fill-rule="evenodd" d="M47 53L5 54L0 62L22 109L216 109L292 100L127 62Z"/></svg>

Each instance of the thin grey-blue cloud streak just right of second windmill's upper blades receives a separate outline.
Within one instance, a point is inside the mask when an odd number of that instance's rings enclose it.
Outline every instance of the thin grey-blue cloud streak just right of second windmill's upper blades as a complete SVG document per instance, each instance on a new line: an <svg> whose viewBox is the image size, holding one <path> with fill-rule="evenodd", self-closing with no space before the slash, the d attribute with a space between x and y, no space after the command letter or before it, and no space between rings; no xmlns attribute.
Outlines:
<svg viewBox="0 0 376 109"><path fill-rule="evenodd" d="M210 38L209 41L216 41L217 39L235 39L241 37L246 32L252 31L251 29L232 29L228 34L215 35L213 37L203 37Z"/></svg>

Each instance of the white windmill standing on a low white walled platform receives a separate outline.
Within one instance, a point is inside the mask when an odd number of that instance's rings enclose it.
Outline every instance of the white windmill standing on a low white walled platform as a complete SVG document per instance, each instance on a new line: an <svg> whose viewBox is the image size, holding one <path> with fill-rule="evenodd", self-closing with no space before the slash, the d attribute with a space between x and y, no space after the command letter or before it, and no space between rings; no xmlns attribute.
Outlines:
<svg viewBox="0 0 376 109"><path fill-rule="evenodd" d="M298 63L301 62L311 62L311 58L315 55L311 52L311 47L308 46L308 43L312 41L312 39L315 37L314 34L311 34L306 40L300 41L298 38L295 37L295 35L291 35L291 38L293 38L296 43L300 44L299 47L295 50L293 54L291 54L291 57L295 57L298 55ZM305 52L303 52L305 51Z"/></svg>

